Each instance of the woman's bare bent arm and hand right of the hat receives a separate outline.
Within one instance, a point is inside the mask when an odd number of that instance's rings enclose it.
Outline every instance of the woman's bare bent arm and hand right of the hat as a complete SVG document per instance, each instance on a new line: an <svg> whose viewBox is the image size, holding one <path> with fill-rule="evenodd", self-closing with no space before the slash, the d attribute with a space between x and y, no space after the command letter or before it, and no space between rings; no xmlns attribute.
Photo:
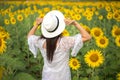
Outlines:
<svg viewBox="0 0 120 80"><path fill-rule="evenodd" d="M91 39L90 34L84 28L82 28L82 26L80 26L80 24L75 20L65 19L65 23L67 25L73 24L79 30L80 34L82 35L83 42Z"/></svg>

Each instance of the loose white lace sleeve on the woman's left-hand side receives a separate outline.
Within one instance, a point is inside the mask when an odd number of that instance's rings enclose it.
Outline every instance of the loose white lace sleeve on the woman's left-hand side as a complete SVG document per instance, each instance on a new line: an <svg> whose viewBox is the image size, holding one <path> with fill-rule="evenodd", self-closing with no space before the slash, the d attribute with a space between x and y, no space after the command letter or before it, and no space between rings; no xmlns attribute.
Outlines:
<svg viewBox="0 0 120 80"><path fill-rule="evenodd" d="M39 37L35 36L35 35L31 35L31 36L28 37L29 50L34 55L34 58L36 58L36 56L37 56L37 51L38 51L37 41L38 41L38 38Z"/></svg>

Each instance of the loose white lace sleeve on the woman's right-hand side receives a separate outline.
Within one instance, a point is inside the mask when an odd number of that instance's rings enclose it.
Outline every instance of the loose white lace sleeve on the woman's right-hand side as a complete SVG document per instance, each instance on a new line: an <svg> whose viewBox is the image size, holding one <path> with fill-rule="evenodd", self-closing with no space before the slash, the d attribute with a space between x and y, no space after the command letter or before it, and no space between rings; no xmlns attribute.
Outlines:
<svg viewBox="0 0 120 80"><path fill-rule="evenodd" d="M83 41L81 35L80 34L75 35L73 37L73 46L72 46L71 55L76 56L79 50L82 48L82 46L83 46Z"/></svg>

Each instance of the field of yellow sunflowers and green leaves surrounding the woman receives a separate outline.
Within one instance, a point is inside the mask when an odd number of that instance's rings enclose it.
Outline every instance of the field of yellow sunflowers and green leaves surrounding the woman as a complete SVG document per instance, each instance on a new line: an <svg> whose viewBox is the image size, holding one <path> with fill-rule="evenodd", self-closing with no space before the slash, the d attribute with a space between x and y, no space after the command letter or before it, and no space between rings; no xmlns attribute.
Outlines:
<svg viewBox="0 0 120 80"><path fill-rule="evenodd" d="M72 80L120 80L120 2L74 0L0 1L0 80L41 80L43 58L29 51L27 33L51 10L78 21L92 36L70 56ZM63 36L77 33L71 25Z"/></svg>

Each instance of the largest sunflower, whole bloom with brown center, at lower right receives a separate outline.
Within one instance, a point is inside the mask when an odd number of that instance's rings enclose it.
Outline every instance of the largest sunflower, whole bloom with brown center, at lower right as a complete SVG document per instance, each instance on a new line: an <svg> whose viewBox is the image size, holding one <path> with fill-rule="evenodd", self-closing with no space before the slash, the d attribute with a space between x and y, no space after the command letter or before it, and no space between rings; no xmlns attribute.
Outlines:
<svg viewBox="0 0 120 80"><path fill-rule="evenodd" d="M85 54L84 60L88 64L88 66L95 68L95 67L99 67L103 63L104 57L101 51L90 50L87 52L87 54Z"/></svg>

